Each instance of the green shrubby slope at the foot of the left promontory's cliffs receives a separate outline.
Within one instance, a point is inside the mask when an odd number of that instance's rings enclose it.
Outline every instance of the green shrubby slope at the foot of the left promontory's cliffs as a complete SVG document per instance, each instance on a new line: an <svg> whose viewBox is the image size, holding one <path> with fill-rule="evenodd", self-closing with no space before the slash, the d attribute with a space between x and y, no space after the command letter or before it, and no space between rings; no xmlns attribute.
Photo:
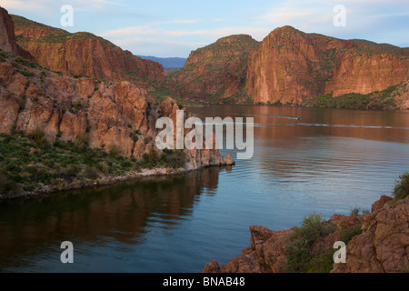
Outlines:
<svg viewBox="0 0 409 291"><path fill-rule="evenodd" d="M170 174L185 162L183 151L160 154L151 147L140 159L126 158L115 146L107 151L90 148L87 134L74 141L57 138L51 145L41 128L31 135L14 129L11 135L0 134L0 196L22 196L42 186L51 190L86 186L107 176L126 176L143 169L166 168Z"/></svg>

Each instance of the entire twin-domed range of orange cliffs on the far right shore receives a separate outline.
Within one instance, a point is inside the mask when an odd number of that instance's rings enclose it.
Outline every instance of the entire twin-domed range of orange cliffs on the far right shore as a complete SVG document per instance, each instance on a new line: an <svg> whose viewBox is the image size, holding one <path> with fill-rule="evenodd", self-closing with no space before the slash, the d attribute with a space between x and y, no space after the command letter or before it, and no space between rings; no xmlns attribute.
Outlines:
<svg viewBox="0 0 409 291"><path fill-rule="evenodd" d="M261 44L249 35L232 35L200 48L184 68L166 77L166 84L204 103L305 105L317 96L381 92L408 78L408 48L284 26ZM404 108L405 100L394 94L388 103L373 102L380 107L367 107Z"/></svg>

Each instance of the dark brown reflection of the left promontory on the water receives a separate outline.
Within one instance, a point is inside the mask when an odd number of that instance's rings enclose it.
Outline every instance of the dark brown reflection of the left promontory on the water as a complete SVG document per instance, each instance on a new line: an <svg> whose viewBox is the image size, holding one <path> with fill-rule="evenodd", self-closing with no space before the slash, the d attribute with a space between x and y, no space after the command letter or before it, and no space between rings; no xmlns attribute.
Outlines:
<svg viewBox="0 0 409 291"><path fill-rule="evenodd" d="M205 188L208 196L215 193L219 172L224 170L231 167L4 202L0 204L0 271L19 266L19 256L38 256L50 246L59 252L65 240L92 243L108 237L138 245L149 223L157 227L160 220L159 227L172 228L191 216Z"/></svg>

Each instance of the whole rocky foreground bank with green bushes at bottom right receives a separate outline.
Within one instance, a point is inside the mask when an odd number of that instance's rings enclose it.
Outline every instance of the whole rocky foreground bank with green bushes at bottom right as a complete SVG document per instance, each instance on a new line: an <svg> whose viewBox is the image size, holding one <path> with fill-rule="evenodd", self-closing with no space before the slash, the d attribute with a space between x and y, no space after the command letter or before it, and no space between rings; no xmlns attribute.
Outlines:
<svg viewBox="0 0 409 291"><path fill-rule="evenodd" d="M409 196L382 196L366 215L334 215L316 226L272 231L250 226L251 246L205 273L395 273L409 267ZM346 244L346 263L334 263L334 243ZM303 262L304 261L304 262Z"/></svg>

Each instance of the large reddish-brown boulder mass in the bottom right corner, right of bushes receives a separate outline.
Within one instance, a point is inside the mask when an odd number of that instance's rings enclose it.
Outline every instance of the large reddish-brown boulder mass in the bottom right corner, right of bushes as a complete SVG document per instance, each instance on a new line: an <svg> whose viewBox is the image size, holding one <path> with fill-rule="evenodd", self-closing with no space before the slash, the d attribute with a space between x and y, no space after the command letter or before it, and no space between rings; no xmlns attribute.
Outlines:
<svg viewBox="0 0 409 291"><path fill-rule="evenodd" d="M347 246L346 264L335 273L404 272L409 266L409 197L396 203L384 196L364 216L364 233Z"/></svg>

